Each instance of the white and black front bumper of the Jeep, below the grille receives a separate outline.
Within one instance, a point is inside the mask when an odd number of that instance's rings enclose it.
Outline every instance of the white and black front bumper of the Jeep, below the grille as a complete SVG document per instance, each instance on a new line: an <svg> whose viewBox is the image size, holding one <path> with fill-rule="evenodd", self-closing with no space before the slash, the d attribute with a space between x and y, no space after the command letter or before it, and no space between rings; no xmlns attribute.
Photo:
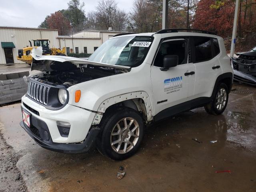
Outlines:
<svg viewBox="0 0 256 192"><path fill-rule="evenodd" d="M30 128L23 122L20 125L40 146L49 150L64 153L86 152L99 133L99 128L92 127L95 113L70 104L60 110L49 110L23 96L21 108L31 114L31 120ZM70 123L67 137L61 136L56 121Z"/></svg>

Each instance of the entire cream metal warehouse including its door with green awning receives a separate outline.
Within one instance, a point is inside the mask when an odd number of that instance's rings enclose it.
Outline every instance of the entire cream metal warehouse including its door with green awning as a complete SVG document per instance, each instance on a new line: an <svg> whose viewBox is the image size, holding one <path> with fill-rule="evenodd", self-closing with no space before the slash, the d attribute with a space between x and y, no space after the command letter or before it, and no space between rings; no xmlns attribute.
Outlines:
<svg viewBox="0 0 256 192"><path fill-rule="evenodd" d="M50 48L66 46L67 53L93 53L110 37L120 33L84 30L70 36L58 36L55 29L0 26L0 64L23 63L16 59L18 49L30 46L29 40L49 39Z"/></svg>

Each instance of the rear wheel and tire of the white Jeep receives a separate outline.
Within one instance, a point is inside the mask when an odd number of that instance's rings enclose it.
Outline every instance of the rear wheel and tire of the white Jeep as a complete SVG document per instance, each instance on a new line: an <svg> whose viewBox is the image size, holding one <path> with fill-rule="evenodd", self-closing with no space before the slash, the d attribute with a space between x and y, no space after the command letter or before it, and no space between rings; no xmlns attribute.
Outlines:
<svg viewBox="0 0 256 192"><path fill-rule="evenodd" d="M208 114L219 115L224 112L228 104L228 87L221 83L218 85L213 100L204 106Z"/></svg>

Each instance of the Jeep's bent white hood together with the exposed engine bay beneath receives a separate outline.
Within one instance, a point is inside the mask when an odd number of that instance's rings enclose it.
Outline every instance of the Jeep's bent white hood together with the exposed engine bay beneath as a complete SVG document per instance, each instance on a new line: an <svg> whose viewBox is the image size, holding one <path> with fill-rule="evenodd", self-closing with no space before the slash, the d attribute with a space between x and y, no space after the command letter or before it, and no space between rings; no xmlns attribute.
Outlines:
<svg viewBox="0 0 256 192"><path fill-rule="evenodd" d="M41 73L32 76L40 82L69 87L78 83L130 71L130 67L91 62L67 56L43 56L40 47L31 52L31 70Z"/></svg>

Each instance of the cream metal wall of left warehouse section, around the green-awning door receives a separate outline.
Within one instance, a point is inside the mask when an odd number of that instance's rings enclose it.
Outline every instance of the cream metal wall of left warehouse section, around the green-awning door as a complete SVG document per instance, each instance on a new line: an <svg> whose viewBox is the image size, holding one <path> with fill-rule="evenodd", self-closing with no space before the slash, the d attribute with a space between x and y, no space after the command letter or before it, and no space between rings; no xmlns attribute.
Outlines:
<svg viewBox="0 0 256 192"><path fill-rule="evenodd" d="M13 37L12 37L13 36ZM50 46L59 47L58 31L44 31L44 30L32 30L32 29L17 29L17 28L0 28L0 42L13 42L15 48L12 48L14 63L24 63L16 59L18 56L18 49L26 46L30 46L28 40L32 39L49 39ZM33 43L33 42L32 42ZM0 64L5 64L4 49L0 46Z"/></svg>

